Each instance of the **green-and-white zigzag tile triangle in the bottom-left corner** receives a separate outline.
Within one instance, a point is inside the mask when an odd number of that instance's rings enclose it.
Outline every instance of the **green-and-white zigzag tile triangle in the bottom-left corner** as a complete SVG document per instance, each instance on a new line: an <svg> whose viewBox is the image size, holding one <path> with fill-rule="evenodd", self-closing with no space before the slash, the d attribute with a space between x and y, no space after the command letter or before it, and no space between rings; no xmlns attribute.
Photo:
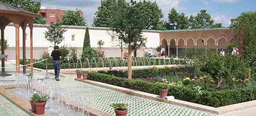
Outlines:
<svg viewBox="0 0 256 116"><path fill-rule="evenodd" d="M0 116L30 116L0 95Z"/></svg>

